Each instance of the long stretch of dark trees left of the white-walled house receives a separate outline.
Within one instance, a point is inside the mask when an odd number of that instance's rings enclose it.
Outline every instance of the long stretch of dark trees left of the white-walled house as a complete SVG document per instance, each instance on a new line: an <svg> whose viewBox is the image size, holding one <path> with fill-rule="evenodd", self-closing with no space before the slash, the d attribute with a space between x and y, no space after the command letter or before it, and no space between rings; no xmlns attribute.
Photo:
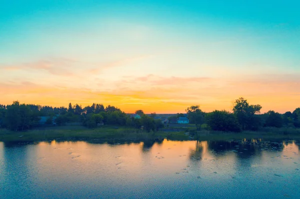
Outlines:
<svg viewBox="0 0 300 199"><path fill-rule="evenodd" d="M45 125L63 126L68 123L79 123L88 128L99 125L127 126L132 128L143 127L146 131L157 131L162 128L160 120L146 116L141 110L136 111L140 119L130 117L119 108L93 103L84 108L69 103L68 107L51 107L33 104L20 104L14 101L11 105L0 104L0 127L12 131L23 131L40 125L40 117L47 117Z"/></svg>

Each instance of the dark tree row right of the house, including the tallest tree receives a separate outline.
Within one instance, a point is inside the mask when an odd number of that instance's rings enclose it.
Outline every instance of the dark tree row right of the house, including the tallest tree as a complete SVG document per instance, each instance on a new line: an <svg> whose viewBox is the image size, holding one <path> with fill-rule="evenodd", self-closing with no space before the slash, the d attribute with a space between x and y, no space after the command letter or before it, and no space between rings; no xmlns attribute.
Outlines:
<svg viewBox="0 0 300 199"><path fill-rule="evenodd" d="M197 130L203 123L206 123L210 130L231 132L257 131L263 127L300 127L300 108L284 114L272 110L261 114L261 108L259 104L250 105L241 97L234 101L232 112L214 110L204 113L199 106L190 106L186 113L190 123L194 123Z"/></svg>

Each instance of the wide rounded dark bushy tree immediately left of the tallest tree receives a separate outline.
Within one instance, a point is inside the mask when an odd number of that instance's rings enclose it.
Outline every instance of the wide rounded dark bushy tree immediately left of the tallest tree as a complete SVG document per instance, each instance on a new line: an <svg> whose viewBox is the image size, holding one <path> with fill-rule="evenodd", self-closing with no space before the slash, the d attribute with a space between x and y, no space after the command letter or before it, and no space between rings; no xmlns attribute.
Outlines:
<svg viewBox="0 0 300 199"><path fill-rule="evenodd" d="M206 123L214 131L240 132L235 115L225 110L207 113Z"/></svg>

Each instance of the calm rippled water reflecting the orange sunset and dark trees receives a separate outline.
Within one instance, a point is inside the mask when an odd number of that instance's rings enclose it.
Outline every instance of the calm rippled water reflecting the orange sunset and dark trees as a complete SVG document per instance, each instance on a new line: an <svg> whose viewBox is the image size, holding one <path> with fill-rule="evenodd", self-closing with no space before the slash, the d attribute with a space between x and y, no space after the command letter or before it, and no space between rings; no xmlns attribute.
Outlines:
<svg viewBox="0 0 300 199"><path fill-rule="evenodd" d="M299 199L298 145L0 142L0 198Z"/></svg>

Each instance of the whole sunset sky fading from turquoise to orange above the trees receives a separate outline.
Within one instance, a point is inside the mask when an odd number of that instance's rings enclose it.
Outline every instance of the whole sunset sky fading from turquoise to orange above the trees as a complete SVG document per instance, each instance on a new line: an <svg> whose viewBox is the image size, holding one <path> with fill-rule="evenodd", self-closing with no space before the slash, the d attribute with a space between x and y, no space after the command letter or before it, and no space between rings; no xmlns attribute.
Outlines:
<svg viewBox="0 0 300 199"><path fill-rule="evenodd" d="M0 104L300 107L298 0L1 0Z"/></svg>

